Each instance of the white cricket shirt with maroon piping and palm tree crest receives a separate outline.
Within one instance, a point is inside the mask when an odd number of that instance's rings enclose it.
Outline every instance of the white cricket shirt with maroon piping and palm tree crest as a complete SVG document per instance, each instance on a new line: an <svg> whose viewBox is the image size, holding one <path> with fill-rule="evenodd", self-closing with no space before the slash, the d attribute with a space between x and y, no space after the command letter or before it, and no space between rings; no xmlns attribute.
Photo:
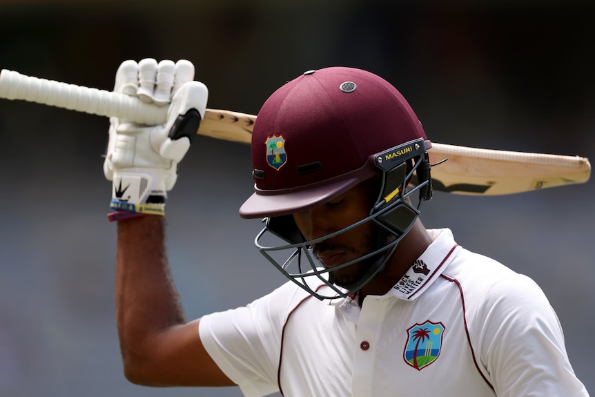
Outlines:
<svg viewBox="0 0 595 397"><path fill-rule="evenodd" d="M287 282L204 316L204 347L249 397L587 396L541 289L449 229L429 232L416 264L361 308Z"/></svg>

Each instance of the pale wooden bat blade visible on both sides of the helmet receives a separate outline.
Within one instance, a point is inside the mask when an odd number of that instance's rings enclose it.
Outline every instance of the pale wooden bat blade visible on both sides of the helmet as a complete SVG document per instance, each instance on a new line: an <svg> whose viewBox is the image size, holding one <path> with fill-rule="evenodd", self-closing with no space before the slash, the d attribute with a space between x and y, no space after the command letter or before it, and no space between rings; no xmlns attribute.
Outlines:
<svg viewBox="0 0 595 397"><path fill-rule="evenodd" d="M256 116L207 109L198 133L250 143ZM428 151L433 188L463 195L508 195L541 188L582 184L591 164L585 157L469 148L432 143Z"/></svg>

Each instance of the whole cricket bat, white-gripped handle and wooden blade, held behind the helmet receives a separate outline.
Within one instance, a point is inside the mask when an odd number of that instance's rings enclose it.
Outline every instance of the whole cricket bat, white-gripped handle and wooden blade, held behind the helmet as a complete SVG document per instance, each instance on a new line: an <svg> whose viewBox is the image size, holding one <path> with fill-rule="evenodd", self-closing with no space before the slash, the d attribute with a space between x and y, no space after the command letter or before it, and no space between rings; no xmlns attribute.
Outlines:
<svg viewBox="0 0 595 397"><path fill-rule="evenodd" d="M167 106L97 88L39 79L3 69L0 98L32 101L79 112L162 124ZM250 144L255 115L206 109L199 135ZM428 151L433 188L465 195L507 195L554 186L583 184L591 175L586 157L500 151L432 142ZM442 160L447 161L442 162ZM438 164L440 163L440 164Z"/></svg>

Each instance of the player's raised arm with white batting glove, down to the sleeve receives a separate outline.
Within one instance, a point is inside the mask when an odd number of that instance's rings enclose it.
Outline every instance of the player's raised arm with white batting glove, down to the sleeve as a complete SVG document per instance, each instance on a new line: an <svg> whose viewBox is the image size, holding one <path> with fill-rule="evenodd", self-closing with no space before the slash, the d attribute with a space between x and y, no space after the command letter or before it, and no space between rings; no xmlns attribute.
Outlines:
<svg viewBox="0 0 595 397"><path fill-rule="evenodd" d="M112 117L104 173L118 222L116 312L126 378L143 385L233 385L186 322L165 252L167 192L204 117L208 92L188 61L125 61L115 91L168 106L165 124Z"/></svg>

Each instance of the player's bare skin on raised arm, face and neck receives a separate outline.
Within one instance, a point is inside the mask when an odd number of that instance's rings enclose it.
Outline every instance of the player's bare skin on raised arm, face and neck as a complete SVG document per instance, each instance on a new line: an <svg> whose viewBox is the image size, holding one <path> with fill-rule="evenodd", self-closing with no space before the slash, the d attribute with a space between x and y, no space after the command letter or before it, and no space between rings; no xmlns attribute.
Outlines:
<svg viewBox="0 0 595 397"><path fill-rule="evenodd" d="M360 184L329 203L295 214L294 219L307 239L322 237L366 217L369 200L369 188ZM358 226L313 249L326 266L357 258L370 249L371 239L365 236L373 235L372 227ZM200 320L186 321L166 258L165 229L159 216L118 222L116 320L124 374L130 382L148 386L234 385L204 349ZM389 291L430 243L416 221L384 271L360 290L360 302L369 294ZM337 282L362 271L350 268L336 272Z"/></svg>

